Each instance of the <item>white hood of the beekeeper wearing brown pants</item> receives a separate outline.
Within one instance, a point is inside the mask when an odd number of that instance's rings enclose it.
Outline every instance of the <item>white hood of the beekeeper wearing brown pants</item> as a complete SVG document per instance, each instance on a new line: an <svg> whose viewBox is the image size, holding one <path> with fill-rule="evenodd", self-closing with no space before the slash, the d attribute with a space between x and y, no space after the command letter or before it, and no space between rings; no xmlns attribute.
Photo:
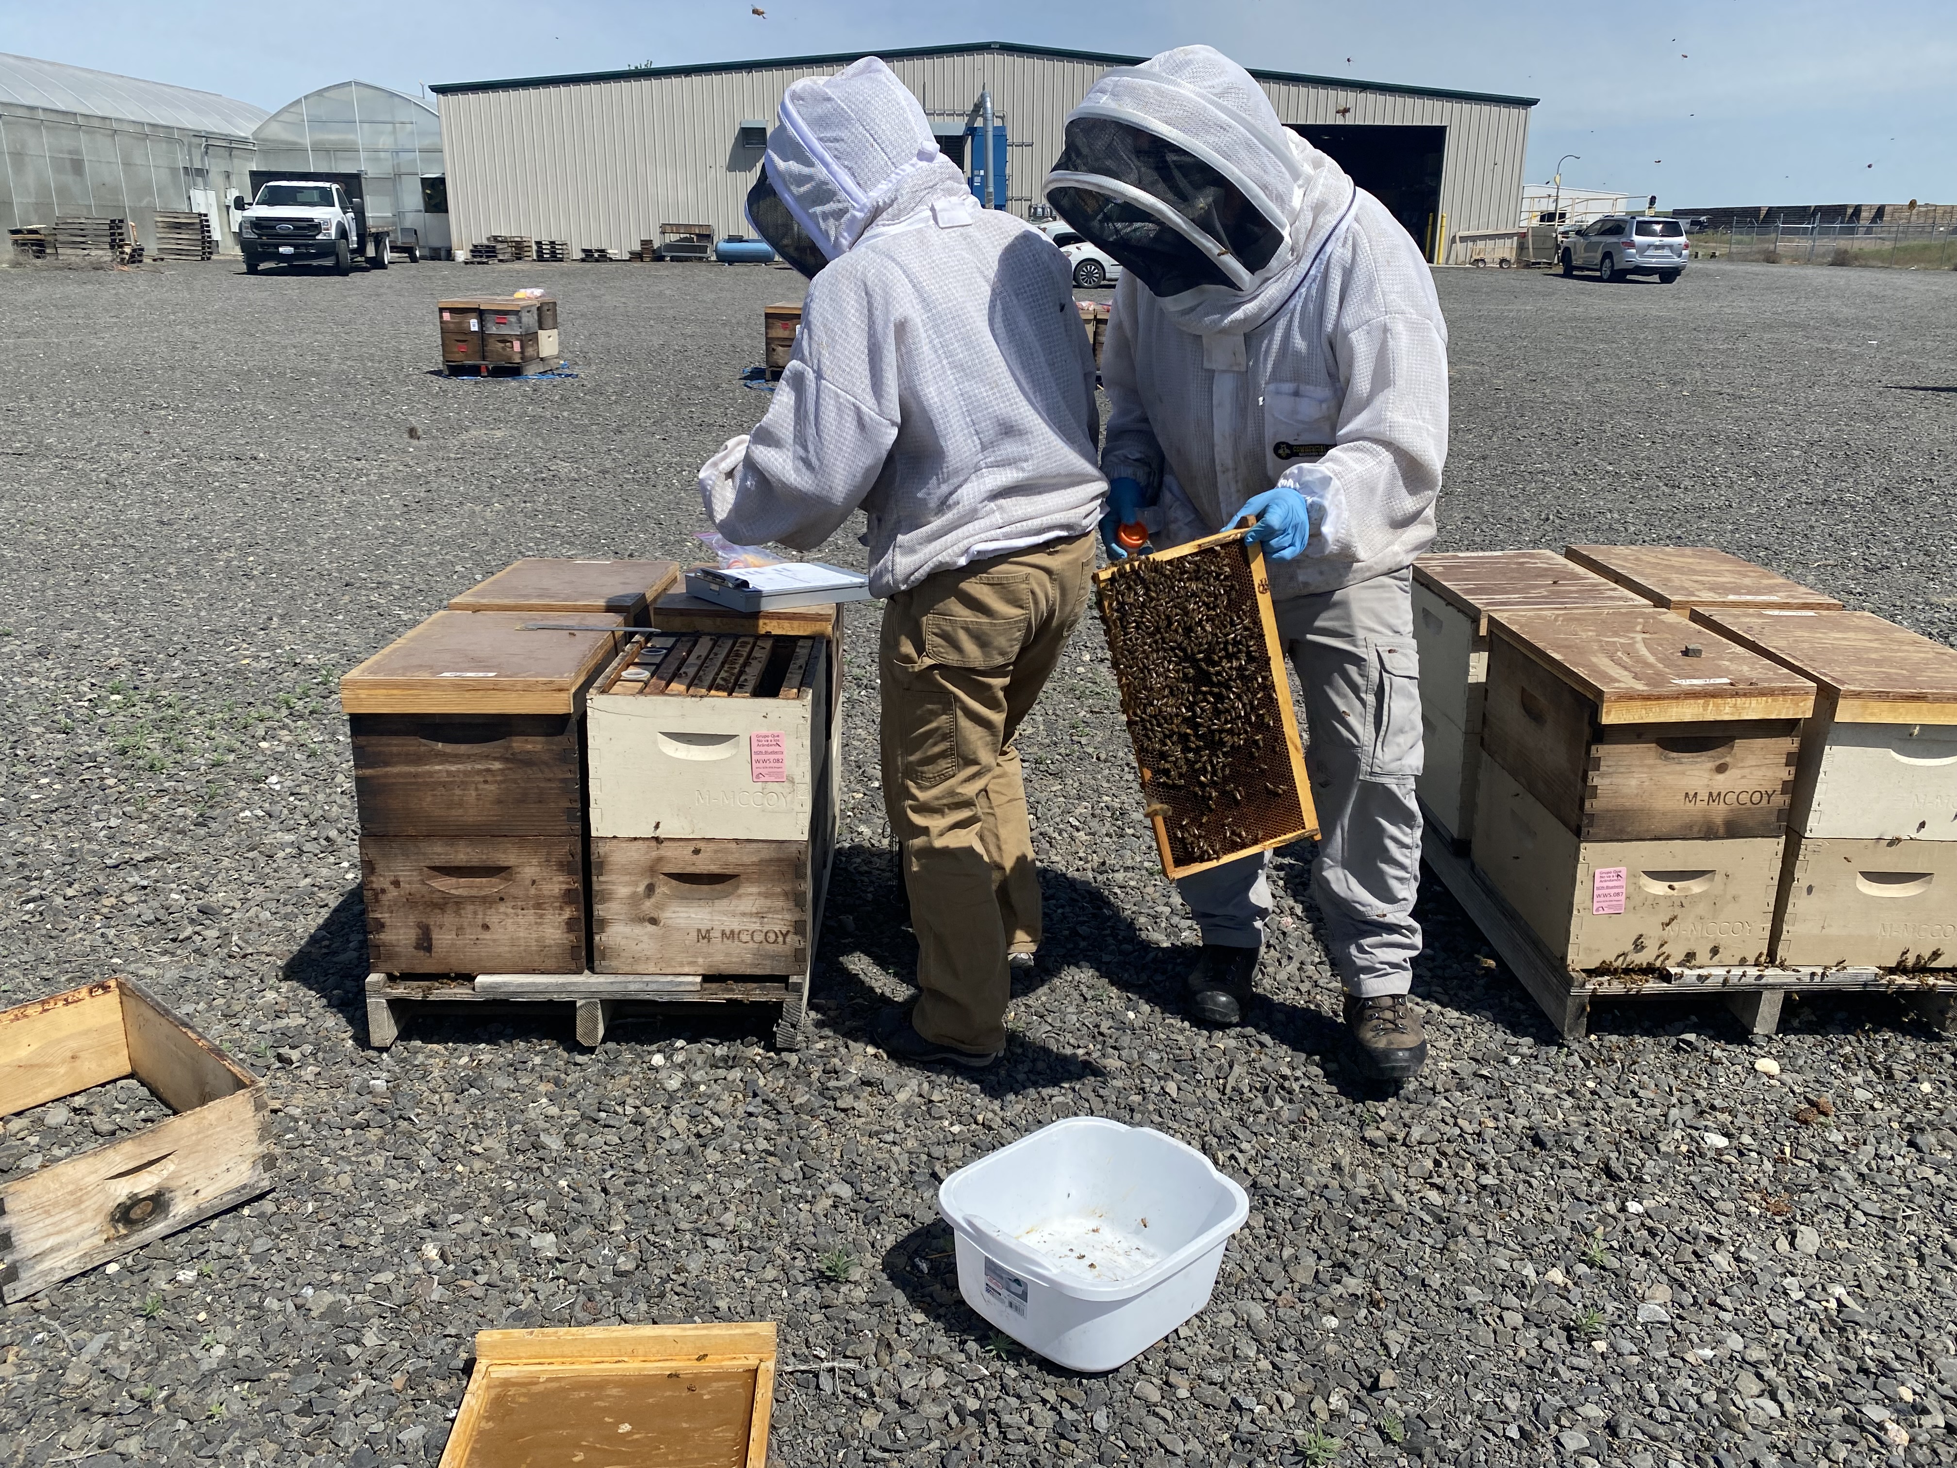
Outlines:
<svg viewBox="0 0 1957 1468"><path fill-rule="evenodd" d="M963 174L937 151L918 98L877 57L795 82L781 98L781 125L767 137L765 168L830 260L881 219L967 192Z"/></svg>

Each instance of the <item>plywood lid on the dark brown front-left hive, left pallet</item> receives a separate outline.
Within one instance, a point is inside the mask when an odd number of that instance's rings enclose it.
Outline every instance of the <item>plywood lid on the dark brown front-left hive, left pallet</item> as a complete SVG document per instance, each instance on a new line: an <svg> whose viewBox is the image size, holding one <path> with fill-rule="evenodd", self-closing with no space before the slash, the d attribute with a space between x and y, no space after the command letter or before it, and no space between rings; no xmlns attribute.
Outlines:
<svg viewBox="0 0 1957 1468"><path fill-rule="evenodd" d="M611 656L624 619L591 632L524 632L534 613L440 611L341 679L350 714L568 714Z"/></svg>

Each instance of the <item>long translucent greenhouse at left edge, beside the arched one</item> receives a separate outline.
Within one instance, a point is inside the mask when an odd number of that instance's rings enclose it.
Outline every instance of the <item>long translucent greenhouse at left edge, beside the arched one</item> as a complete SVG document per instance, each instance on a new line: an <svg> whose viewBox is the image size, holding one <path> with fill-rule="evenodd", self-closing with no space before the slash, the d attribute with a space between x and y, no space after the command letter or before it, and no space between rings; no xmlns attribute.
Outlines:
<svg viewBox="0 0 1957 1468"><path fill-rule="evenodd" d="M157 209L198 209L227 245L219 200L247 188L264 117L215 92L0 55L0 227L127 219L155 243Z"/></svg>

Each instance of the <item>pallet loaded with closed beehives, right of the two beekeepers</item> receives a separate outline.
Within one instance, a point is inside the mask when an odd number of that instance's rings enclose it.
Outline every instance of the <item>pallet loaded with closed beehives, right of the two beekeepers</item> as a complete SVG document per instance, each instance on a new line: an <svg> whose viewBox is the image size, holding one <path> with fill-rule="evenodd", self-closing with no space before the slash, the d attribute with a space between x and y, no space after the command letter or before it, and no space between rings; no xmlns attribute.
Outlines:
<svg viewBox="0 0 1957 1468"><path fill-rule="evenodd" d="M1957 652L1705 548L1429 556L1415 620L1427 861L1566 1035L1957 988Z"/></svg>

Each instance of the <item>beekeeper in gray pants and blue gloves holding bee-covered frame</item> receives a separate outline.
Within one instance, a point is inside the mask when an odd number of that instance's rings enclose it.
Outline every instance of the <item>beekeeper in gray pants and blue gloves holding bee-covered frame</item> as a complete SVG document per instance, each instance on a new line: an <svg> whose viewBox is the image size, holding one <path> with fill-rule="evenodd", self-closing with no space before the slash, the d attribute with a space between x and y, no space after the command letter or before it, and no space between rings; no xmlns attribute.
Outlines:
<svg viewBox="0 0 1957 1468"><path fill-rule="evenodd" d="M1305 691L1313 889L1346 1026L1374 1073L1413 1075L1427 1039L1407 1000L1421 951L1409 568L1434 534L1448 442L1427 264L1202 45L1102 76L1067 119L1047 200L1127 268L1102 350L1110 556L1112 527L1135 519L1164 546L1254 517ZM1192 1012L1237 1024L1270 914L1266 859L1178 887L1204 936Z"/></svg>

